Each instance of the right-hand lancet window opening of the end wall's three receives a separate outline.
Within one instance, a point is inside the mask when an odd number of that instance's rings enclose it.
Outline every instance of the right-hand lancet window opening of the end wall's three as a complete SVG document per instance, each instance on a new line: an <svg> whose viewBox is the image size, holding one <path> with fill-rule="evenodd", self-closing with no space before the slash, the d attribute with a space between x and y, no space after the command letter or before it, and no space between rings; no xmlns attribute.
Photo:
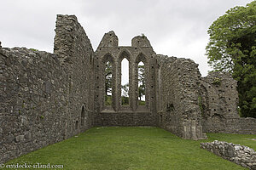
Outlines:
<svg viewBox="0 0 256 170"><path fill-rule="evenodd" d="M137 65L138 105L145 105L145 65L143 61Z"/></svg>

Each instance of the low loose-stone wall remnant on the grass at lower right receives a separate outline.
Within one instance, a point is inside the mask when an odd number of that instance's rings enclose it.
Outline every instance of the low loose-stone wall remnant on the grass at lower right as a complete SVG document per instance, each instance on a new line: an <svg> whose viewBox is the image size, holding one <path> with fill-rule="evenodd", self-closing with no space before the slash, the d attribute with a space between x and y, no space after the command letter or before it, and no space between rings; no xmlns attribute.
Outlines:
<svg viewBox="0 0 256 170"><path fill-rule="evenodd" d="M247 146L214 140L211 143L201 143L201 148L233 161L241 167L256 169L256 152Z"/></svg>

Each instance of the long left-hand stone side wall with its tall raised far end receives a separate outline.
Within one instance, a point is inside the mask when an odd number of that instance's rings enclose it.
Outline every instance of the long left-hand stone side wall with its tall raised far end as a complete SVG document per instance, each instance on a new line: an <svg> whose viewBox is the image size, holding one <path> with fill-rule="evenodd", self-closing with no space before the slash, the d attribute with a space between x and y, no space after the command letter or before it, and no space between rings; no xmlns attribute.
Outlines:
<svg viewBox="0 0 256 170"><path fill-rule="evenodd" d="M91 127L90 42L74 16L55 31L55 54L0 48L0 162Z"/></svg>

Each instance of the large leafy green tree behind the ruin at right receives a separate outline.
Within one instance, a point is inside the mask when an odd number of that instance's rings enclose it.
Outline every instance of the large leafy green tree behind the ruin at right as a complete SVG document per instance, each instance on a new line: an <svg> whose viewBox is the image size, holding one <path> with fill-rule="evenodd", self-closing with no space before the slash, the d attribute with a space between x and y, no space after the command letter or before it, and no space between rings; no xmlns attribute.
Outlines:
<svg viewBox="0 0 256 170"><path fill-rule="evenodd" d="M256 1L231 8L208 30L208 63L238 81L241 116L256 117Z"/></svg>

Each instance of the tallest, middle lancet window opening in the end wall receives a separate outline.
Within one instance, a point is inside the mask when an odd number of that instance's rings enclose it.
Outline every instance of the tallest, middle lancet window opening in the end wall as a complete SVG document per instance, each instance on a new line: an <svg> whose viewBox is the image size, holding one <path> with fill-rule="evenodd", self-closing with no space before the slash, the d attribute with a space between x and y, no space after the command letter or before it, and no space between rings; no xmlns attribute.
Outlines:
<svg viewBox="0 0 256 170"><path fill-rule="evenodd" d="M129 105L129 61L121 62L121 105Z"/></svg>

